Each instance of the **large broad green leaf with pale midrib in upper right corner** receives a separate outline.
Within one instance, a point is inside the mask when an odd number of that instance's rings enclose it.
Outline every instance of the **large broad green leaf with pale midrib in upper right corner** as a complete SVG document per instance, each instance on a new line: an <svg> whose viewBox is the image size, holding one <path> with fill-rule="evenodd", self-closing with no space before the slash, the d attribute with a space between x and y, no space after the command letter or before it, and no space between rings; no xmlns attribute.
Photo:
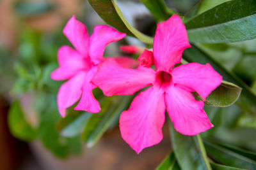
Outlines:
<svg viewBox="0 0 256 170"><path fill-rule="evenodd" d="M186 22L189 41L232 43L256 38L256 0L227 1Z"/></svg>

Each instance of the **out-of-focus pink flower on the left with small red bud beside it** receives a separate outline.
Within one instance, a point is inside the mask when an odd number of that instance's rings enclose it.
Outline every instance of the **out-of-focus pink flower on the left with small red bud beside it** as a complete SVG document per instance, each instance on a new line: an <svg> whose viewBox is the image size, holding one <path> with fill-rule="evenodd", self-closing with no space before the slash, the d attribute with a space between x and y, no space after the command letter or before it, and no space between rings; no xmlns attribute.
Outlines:
<svg viewBox="0 0 256 170"><path fill-rule="evenodd" d="M86 27L76 20L75 16L67 22L63 34L76 50L70 46L61 46L58 51L60 67L51 74L53 80L68 80L61 85L58 92L58 110L61 116L65 117L66 108L72 106L82 96L75 110L97 113L100 111L100 105L92 94L92 90L97 86L91 80L97 73L97 65L104 60L105 46L124 38L125 34L107 25L97 25L89 38ZM115 60L127 67L136 64L134 60L127 57Z"/></svg>

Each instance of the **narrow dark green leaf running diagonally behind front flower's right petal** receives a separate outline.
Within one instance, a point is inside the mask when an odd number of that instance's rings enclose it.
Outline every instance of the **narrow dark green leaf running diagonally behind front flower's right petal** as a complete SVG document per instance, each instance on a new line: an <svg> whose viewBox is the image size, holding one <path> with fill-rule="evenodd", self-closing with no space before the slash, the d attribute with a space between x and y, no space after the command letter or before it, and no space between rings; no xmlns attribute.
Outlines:
<svg viewBox="0 0 256 170"><path fill-rule="evenodd" d="M218 64L216 60L212 59L210 55L200 50L200 48L196 47L195 45L192 45L192 48L188 48L184 51L183 55L184 59L186 59L188 62L198 62L200 64L211 64L212 67L218 73L223 76L223 80L229 81L231 83L235 83L239 87L241 87L243 90L241 92L241 97L239 97L239 100L237 103L243 107L244 110L250 111L250 113L255 114L256 113L256 107L255 107L255 101L256 101L256 95L252 92L250 87L246 85L242 80L240 80L234 73L231 73L227 71L221 64Z"/></svg>

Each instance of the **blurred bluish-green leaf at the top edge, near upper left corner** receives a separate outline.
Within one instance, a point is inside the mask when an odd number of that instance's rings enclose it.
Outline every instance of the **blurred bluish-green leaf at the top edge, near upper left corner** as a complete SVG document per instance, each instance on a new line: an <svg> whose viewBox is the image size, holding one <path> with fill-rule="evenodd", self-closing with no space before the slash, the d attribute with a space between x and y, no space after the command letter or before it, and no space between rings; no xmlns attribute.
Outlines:
<svg viewBox="0 0 256 170"><path fill-rule="evenodd" d="M19 17L35 17L54 10L54 5L49 1L42 2L16 2L14 10Z"/></svg>

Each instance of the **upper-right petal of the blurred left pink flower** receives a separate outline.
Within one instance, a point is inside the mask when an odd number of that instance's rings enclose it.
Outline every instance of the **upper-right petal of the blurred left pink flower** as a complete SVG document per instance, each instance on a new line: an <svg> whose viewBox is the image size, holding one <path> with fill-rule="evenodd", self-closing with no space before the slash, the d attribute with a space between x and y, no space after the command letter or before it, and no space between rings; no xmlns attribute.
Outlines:
<svg viewBox="0 0 256 170"><path fill-rule="evenodd" d="M97 25L94 27L93 34L90 37L90 57L93 63L99 64L102 62L105 46L124 38L125 35L107 25Z"/></svg>

